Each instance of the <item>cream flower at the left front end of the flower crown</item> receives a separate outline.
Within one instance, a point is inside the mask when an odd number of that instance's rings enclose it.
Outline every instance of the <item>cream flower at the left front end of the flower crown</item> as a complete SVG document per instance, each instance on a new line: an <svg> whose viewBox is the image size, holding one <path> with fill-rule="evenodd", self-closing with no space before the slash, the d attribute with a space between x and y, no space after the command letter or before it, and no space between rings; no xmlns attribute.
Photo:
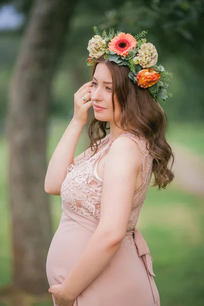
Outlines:
<svg viewBox="0 0 204 306"><path fill-rule="evenodd" d="M94 35L88 42L87 50L89 50L89 56L92 58L99 58L105 53L106 42L99 35Z"/></svg>

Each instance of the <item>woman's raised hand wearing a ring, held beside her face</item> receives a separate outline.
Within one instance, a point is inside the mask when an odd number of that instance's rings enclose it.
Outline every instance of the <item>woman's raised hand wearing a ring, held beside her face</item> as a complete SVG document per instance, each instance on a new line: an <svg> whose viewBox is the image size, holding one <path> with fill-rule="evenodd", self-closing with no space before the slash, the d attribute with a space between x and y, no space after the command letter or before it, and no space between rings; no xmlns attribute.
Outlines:
<svg viewBox="0 0 204 306"><path fill-rule="evenodd" d="M92 106L91 89L93 87L92 82L85 83L80 89L74 93L74 115L73 118L77 119L83 125L88 120L88 109ZM86 99L84 101L82 97ZM90 100L90 101L89 101Z"/></svg>

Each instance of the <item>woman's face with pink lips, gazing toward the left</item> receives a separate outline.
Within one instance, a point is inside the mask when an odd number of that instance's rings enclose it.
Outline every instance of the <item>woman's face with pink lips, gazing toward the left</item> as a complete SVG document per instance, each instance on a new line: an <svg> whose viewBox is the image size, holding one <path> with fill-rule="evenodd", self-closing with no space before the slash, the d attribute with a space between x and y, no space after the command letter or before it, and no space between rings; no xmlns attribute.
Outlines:
<svg viewBox="0 0 204 306"><path fill-rule="evenodd" d="M104 63L98 63L93 75L93 86L91 90L91 100L94 105L97 104L103 107L103 110L94 109L94 116L99 121L113 121L113 106L112 106L112 76ZM116 96L115 103L115 121L120 122L121 110Z"/></svg>

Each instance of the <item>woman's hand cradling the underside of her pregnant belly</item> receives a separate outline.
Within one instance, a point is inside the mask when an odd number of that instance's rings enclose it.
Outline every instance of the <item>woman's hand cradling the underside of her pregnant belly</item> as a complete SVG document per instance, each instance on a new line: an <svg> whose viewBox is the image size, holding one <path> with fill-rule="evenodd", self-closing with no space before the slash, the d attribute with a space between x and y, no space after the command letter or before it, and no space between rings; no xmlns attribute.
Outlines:
<svg viewBox="0 0 204 306"><path fill-rule="evenodd" d="M65 292L62 291L62 285L53 285L48 290L55 298L55 303L58 306L73 306L74 300L68 298Z"/></svg>

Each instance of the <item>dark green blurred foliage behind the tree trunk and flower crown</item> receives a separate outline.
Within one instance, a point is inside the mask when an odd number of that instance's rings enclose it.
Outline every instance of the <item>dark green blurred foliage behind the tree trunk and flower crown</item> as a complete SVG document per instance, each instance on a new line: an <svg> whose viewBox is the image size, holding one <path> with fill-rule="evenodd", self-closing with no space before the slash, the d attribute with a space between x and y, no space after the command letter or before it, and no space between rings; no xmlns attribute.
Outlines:
<svg viewBox="0 0 204 306"><path fill-rule="evenodd" d="M1 3L8 1L1 1ZM13 1L16 12L23 16L19 27L0 32L1 119L7 112L8 86L12 67L22 43L33 0ZM66 118L72 115L73 92L89 80L88 40L92 27L102 32L116 30L136 34L148 30L147 41L156 45L158 63L173 72L164 110L169 120L202 120L204 107L201 82L203 74L204 26L203 1L80 1L72 15L62 56L53 82L49 114ZM68 112L67 112L68 110Z"/></svg>

